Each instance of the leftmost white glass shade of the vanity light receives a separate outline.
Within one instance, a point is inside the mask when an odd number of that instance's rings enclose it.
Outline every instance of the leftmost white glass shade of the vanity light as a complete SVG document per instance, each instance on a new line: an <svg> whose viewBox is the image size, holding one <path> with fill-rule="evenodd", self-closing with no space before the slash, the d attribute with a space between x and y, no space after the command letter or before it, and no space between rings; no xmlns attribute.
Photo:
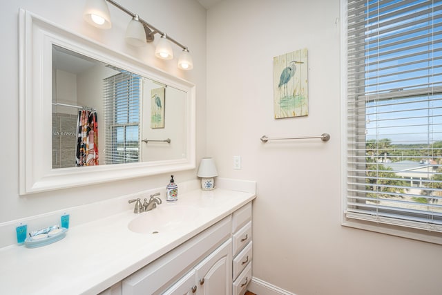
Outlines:
<svg viewBox="0 0 442 295"><path fill-rule="evenodd" d="M109 8L104 0L87 0L83 19L97 28L108 29L112 27Z"/></svg>

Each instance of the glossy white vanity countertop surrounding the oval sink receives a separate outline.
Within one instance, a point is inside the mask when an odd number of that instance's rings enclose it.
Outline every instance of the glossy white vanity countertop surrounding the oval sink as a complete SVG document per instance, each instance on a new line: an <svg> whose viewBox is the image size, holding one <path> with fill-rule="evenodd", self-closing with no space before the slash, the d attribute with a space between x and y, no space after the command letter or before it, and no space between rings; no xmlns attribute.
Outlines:
<svg viewBox="0 0 442 295"><path fill-rule="evenodd" d="M127 210L72 227L63 240L44 247L4 247L0 249L0 293L97 294L254 198L253 193L241 191L195 190L180 195L177 204L163 200L159 205L198 208L196 218L168 233L133 233L128 223L149 212Z"/></svg>

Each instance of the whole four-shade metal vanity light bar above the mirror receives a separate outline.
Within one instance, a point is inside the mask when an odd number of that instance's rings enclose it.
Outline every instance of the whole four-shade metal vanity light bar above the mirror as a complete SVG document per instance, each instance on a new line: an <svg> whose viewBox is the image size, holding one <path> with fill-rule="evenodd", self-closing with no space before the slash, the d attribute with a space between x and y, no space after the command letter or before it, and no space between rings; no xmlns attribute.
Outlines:
<svg viewBox="0 0 442 295"><path fill-rule="evenodd" d="M113 0L86 0L84 19L97 28L111 28L111 17L106 1L132 17L126 29L126 42L128 44L144 46L146 42L152 42L155 39L155 34L160 34L161 38L155 48L155 56L160 59L173 59L173 49L170 44L172 42L182 48L180 59L178 59L178 68L182 70L191 70L193 68L192 57L187 46L180 44L175 39L169 37L169 35L166 35L165 32L158 30Z"/></svg>

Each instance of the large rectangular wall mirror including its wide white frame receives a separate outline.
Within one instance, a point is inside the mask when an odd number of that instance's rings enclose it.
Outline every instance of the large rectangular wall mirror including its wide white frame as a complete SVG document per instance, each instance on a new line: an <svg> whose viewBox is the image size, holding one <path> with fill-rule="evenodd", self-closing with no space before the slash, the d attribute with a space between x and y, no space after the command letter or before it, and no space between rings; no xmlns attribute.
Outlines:
<svg viewBox="0 0 442 295"><path fill-rule="evenodd" d="M20 10L19 24L21 195L195 168L194 84L32 12ZM122 122L108 89L126 77L136 99L124 111L137 115ZM87 157L77 149L85 111L97 128Z"/></svg>

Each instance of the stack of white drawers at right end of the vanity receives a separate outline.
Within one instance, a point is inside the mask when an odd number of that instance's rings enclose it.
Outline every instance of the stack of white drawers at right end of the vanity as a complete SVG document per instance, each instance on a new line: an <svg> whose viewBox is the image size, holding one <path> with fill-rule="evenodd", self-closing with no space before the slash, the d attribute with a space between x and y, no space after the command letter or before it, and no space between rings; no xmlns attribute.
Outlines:
<svg viewBox="0 0 442 295"><path fill-rule="evenodd" d="M233 295L243 295L251 280L251 202L232 216Z"/></svg>

